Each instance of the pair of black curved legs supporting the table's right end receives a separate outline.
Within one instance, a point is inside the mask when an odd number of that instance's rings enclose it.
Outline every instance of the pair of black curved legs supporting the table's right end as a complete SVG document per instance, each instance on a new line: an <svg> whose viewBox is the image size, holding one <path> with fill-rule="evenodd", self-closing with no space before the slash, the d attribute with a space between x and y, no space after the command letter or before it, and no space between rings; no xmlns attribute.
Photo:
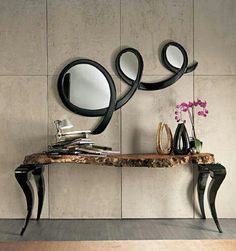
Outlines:
<svg viewBox="0 0 236 251"><path fill-rule="evenodd" d="M220 227L216 208L215 208L215 200L217 191L220 188L225 176L226 170L225 167L221 164L204 164L198 165L199 175L198 175L198 200L202 213L202 218L205 219L205 210L204 210L204 192L206 188L207 178L210 176L212 178L210 185L208 187L208 202L211 210L212 217L215 221L215 224L220 233L222 233L222 229Z"/></svg>

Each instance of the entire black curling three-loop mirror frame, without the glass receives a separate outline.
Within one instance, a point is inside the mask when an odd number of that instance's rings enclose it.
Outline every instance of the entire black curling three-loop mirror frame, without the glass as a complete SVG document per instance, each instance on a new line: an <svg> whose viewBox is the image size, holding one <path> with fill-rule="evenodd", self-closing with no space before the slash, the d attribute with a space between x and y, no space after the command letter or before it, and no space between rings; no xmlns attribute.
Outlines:
<svg viewBox="0 0 236 251"><path fill-rule="evenodd" d="M177 47L182 55L183 55L183 64L180 68L174 67L167 59L166 52L169 46L175 46ZM121 69L120 66L120 59L121 56L126 53L126 52L131 52L133 53L138 61L138 70L136 74L136 79L130 79ZM60 98L63 102L63 104L72 112L82 115L82 116L87 116L87 117L103 117L99 124L95 127L95 129L92 130L92 134L99 134L102 133L107 125L109 124L112 114L115 110L120 109L123 105L125 105L131 97L134 95L137 89L139 90L146 90L146 91L155 91L155 90L161 90L164 88L167 88L174 84L178 79L180 79L185 73L192 72L196 69L197 67L197 62L193 63L191 66L188 67L188 56L185 51L185 49L180 45L179 43L176 42L168 42L162 49L161 53L161 59L163 65L173 73L173 75L165 80L156 82L156 83L145 83L141 82L141 78L143 75L143 58L141 54L139 53L138 50L134 48L126 48L121 50L115 59L115 68L116 71L119 75L119 77L128 85L131 87L126 91L125 94L118 100L116 100L116 88L114 81L109 74L109 72L99 63L92 61L90 59L78 59L75 60L71 63L69 63L65 68L61 71L59 78L58 78L58 92L60 95ZM105 76L107 79L107 82L109 84L110 88L110 101L109 101L109 106L106 108L102 109L94 109L94 110L88 110L84 108L80 108L74 104L72 104L68 98L68 90L66 90L66 84L68 81L70 81L70 74L68 74L68 70L77 65L77 64L90 64L94 67L96 67L98 70L102 72L102 74Z"/></svg>

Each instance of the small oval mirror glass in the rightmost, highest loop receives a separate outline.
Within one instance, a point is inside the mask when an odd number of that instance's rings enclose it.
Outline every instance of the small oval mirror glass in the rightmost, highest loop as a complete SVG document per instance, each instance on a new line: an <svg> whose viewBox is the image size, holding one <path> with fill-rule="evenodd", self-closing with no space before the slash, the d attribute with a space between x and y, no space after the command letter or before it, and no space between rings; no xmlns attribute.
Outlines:
<svg viewBox="0 0 236 251"><path fill-rule="evenodd" d="M166 50L166 58L169 63L176 67L181 68L184 62L184 57L180 49L176 46L170 45Z"/></svg>

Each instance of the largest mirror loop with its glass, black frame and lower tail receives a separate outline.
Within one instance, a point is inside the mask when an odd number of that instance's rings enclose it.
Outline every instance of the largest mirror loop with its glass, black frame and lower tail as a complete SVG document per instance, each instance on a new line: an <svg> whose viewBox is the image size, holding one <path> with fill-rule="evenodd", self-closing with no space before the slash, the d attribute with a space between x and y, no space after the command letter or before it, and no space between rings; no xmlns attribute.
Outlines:
<svg viewBox="0 0 236 251"><path fill-rule="evenodd" d="M115 109L116 88L102 65L89 59L71 62L59 75L58 91L63 104L74 113L103 117L93 134L106 128Z"/></svg>

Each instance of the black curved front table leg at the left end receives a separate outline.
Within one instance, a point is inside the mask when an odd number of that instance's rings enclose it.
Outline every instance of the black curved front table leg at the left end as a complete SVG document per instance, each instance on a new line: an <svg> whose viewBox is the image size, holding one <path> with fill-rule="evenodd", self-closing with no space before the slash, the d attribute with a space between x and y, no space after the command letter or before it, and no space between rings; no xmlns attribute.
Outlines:
<svg viewBox="0 0 236 251"><path fill-rule="evenodd" d="M23 235L27 225L29 223L32 209L33 209L33 203L34 203L34 192L33 188L31 186L31 183L29 181L29 174L34 169L33 165L21 165L16 168L15 170L15 177L20 184L26 198L27 202L27 216L25 218L25 224L20 232L20 235Z"/></svg>

